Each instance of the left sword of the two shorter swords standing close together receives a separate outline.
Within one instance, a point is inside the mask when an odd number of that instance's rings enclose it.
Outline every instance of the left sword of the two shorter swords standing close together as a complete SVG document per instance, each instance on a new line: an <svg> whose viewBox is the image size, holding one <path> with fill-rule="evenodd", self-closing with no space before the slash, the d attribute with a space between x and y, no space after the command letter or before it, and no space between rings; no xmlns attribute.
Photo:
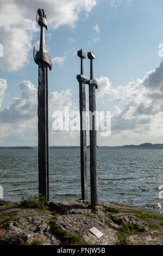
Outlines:
<svg viewBox="0 0 163 256"><path fill-rule="evenodd" d="M81 185L82 199L87 200L87 152L86 152L86 99L83 59L86 54L83 50L78 51L78 57L81 59L80 75L77 76L79 82L79 106L80 106L80 167L81 167Z"/></svg>

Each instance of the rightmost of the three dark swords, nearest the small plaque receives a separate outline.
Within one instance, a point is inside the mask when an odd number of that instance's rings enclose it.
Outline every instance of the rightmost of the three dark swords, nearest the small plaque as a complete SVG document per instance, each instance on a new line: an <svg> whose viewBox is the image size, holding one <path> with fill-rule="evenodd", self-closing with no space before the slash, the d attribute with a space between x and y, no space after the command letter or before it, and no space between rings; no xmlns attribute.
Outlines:
<svg viewBox="0 0 163 256"><path fill-rule="evenodd" d="M92 52L87 53L87 57L91 61L90 66L90 80L86 83L89 84L89 109L90 109L90 178L91 178L91 206L98 205L97 196L97 131L96 131L96 93L98 88L97 81L93 77L93 59L95 55Z"/></svg>

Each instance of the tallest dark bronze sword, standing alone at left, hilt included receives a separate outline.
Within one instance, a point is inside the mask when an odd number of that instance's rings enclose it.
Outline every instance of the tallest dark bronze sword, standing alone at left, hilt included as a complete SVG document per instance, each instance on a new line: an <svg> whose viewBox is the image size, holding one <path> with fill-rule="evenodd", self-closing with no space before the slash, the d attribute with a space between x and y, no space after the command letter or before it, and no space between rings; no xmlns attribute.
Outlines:
<svg viewBox="0 0 163 256"><path fill-rule="evenodd" d="M35 63L39 66L38 86L38 133L39 133L39 193L49 200L48 179L48 68L52 69L51 57L46 52L45 28L47 17L43 9L37 10L36 20L41 27L40 50L34 47Z"/></svg>

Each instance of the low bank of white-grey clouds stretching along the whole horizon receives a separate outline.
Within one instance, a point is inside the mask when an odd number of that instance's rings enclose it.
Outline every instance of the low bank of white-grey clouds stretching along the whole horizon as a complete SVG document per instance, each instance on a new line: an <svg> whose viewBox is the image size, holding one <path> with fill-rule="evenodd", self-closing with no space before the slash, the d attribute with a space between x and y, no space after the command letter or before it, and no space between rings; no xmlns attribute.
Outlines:
<svg viewBox="0 0 163 256"><path fill-rule="evenodd" d="M139 144L142 142L161 143L163 126L163 64L141 79L126 85L114 86L107 76L98 78L98 102L105 106L111 102L111 136L102 138L98 133L99 145ZM7 89L7 81L0 80L0 104ZM37 87L30 81L20 84L21 97L12 99L8 108L0 111L0 144L37 144ZM53 112L62 111L65 106L74 105L70 89L49 95L49 138L50 144L79 145L79 132L53 131Z"/></svg>

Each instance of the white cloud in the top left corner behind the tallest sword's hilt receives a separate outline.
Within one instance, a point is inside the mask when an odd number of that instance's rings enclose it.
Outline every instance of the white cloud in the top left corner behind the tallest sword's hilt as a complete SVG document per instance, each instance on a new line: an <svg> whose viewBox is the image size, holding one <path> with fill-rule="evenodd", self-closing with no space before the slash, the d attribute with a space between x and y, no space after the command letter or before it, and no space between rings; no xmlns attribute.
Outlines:
<svg viewBox="0 0 163 256"><path fill-rule="evenodd" d="M61 25L74 27L79 14L89 13L95 5L96 0L0 0L0 44L4 50L0 71L19 70L28 64L32 42L39 31L38 8L45 9L48 25L56 29Z"/></svg>

